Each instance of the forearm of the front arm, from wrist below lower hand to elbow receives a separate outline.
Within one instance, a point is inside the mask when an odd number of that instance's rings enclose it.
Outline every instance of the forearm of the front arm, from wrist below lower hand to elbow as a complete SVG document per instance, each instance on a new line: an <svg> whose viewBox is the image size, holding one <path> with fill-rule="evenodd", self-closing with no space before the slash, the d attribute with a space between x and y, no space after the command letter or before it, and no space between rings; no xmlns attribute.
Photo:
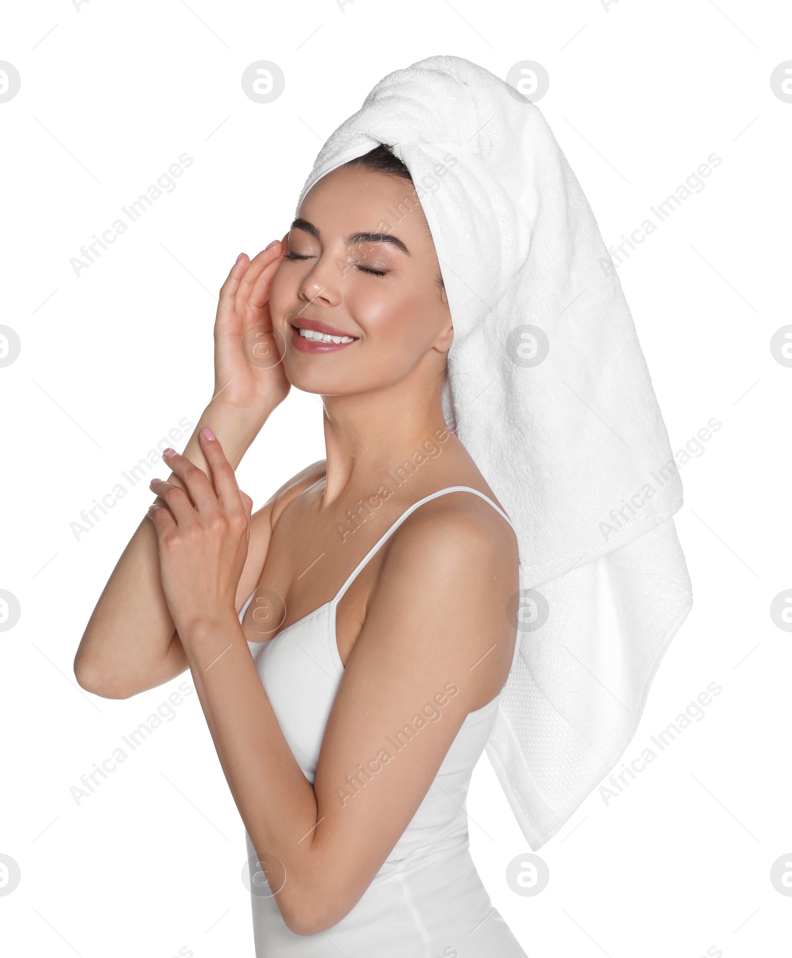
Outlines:
<svg viewBox="0 0 792 958"><path fill-rule="evenodd" d="M238 620L187 631L195 689L247 833L271 868L275 901L290 927L318 931L325 906L316 890L328 876L311 847L321 816L314 790L283 737Z"/></svg>

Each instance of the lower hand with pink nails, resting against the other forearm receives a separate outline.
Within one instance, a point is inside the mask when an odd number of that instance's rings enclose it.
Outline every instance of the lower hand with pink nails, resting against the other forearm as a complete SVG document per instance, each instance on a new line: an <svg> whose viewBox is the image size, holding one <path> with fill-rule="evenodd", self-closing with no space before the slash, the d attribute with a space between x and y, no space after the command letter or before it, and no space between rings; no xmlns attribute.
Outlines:
<svg viewBox="0 0 792 958"><path fill-rule="evenodd" d="M236 617L253 508L250 496L239 490L234 468L212 430L202 429L199 442L214 489L202 469L169 449L163 453L164 461L186 491L159 479L150 483L165 503L153 503L148 517L157 531L160 578L182 642L200 624L212 626Z"/></svg>

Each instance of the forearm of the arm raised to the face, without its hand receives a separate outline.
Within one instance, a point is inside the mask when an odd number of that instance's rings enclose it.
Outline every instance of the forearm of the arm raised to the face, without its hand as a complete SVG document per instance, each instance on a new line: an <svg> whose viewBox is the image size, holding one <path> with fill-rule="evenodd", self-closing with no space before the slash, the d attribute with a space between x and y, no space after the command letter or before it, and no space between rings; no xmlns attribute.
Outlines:
<svg viewBox="0 0 792 958"><path fill-rule="evenodd" d="M268 415L265 411L253 416L215 400L201 415L186 453L207 469L197 434L208 425L229 449L229 461L237 468ZM170 482L181 485L172 473ZM186 667L160 581L157 536L144 516L85 628L75 674L80 685L97 695L127 697L169 681Z"/></svg>

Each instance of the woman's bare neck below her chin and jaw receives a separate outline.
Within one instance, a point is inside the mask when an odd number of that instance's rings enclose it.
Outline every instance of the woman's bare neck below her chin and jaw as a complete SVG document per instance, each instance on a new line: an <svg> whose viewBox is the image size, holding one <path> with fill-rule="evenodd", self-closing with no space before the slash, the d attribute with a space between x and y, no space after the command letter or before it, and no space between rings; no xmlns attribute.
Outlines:
<svg viewBox="0 0 792 958"><path fill-rule="evenodd" d="M408 376L386 389L352 396L325 396L328 478L325 505L363 490L393 486L390 470L417 451L429 458L447 429L441 385Z"/></svg>

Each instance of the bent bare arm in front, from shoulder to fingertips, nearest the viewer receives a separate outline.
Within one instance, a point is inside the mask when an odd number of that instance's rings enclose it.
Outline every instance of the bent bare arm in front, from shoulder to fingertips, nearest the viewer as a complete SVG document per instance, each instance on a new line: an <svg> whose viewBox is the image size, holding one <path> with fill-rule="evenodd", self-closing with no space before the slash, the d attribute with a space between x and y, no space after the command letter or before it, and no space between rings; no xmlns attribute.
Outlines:
<svg viewBox="0 0 792 958"><path fill-rule="evenodd" d="M491 670L510 663L514 629L506 605L517 587L516 542L478 499L464 510L434 500L431 511L423 507L399 527L333 702L311 786L283 737L235 611L252 503L219 443L204 435L200 442L216 493L205 473L178 455L169 465L187 491L152 486L168 506L149 511L163 588L220 764L283 920L298 934L316 934L341 921L366 891Z"/></svg>

